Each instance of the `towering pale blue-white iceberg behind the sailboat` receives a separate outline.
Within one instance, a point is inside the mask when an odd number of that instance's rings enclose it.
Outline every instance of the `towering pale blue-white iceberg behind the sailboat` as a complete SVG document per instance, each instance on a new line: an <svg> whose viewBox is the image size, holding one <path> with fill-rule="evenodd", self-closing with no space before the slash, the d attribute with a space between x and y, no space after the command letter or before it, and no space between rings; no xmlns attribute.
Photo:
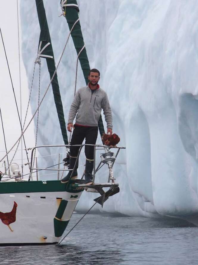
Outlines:
<svg viewBox="0 0 198 265"><path fill-rule="evenodd" d="M63 16L58 17L59 1L43 2L58 62L68 24ZM103 210L99 205L96 209L130 216L196 215L197 1L78 0L78 4L90 67L101 71L99 84L110 100L113 131L121 138L119 146L127 148L114 165L120 193L107 200ZM30 88L40 28L35 2L21 2L20 8L23 60ZM66 122L74 95L76 62L70 39L57 71ZM38 97L35 80L33 112ZM41 84L42 96L49 84L44 59ZM79 65L77 88L84 85ZM38 145L63 144L55 113L50 90L40 109ZM97 143L101 143L99 137ZM49 154L49 150L41 154ZM82 156L81 164L84 161ZM41 162L42 167L55 164L52 157ZM82 171L80 168L80 174ZM107 178L107 169L105 172L100 180ZM83 192L77 209L87 209L95 197Z"/></svg>

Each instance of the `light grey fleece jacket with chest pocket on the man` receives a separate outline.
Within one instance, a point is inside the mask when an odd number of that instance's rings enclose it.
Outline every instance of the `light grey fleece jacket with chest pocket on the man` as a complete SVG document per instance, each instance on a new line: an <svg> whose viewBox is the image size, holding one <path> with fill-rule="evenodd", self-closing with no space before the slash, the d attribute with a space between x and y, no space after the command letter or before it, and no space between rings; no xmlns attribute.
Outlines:
<svg viewBox="0 0 198 265"><path fill-rule="evenodd" d="M112 129L112 114L107 93L101 88L91 91L86 86L80 88L71 104L69 110L68 124L73 123L76 116L76 123L85 126L98 126L101 110L103 109L107 128Z"/></svg>

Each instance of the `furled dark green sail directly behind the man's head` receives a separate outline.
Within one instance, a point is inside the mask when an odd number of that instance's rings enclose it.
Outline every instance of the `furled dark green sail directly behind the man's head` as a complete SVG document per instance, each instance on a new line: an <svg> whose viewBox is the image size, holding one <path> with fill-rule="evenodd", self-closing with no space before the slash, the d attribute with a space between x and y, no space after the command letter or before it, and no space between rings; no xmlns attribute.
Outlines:
<svg viewBox="0 0 198 265"><path fill-rule="evenodd" d="M78 8L77 1L76 0L61 1L61 5L62 5L62 10L64 12L65 18L66 18L68 26L69 26L69 30L71 30L72 26L74 25L74 23L78 19L79 8ZM79 54L80 50L85 45L79 21L74 26L74 29L71 32L71 36L72 36L77 54ZM82 52L79 55L79 61L80 61L80 65L81 65L83 75L85 78L85 82L87 85L90 66L89 66L89 61L88 61L87 52L86 52L85 48L82 50ZM104 130L101 115L100 115L100 119L98 122L98 127L99 127L99 131L100 131L100 135L102 136L102 134L105 132L105 130Z"/></svg>

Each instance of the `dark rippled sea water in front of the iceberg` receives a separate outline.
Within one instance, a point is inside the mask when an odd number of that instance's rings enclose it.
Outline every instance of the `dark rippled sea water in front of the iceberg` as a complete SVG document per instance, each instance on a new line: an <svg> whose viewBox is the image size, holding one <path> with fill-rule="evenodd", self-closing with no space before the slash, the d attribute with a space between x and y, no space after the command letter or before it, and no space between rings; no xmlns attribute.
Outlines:
<svg viewBox="0 0 198 265"><path fill-rule="evenodd" d="M81 217L72 216L66 233ZM60 246L0 247L0 264L197 265L198 228L176 219L90 214Z"/></svg>

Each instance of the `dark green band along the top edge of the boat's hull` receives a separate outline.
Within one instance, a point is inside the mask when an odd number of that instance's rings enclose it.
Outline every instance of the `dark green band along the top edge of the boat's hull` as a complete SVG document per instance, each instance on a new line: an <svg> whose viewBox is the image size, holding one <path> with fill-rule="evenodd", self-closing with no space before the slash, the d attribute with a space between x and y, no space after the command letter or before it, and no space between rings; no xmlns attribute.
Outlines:
<svg viewBox="0 0 198 265"><path fill-rule="evenodd" d="M45 183L45 184L44 184ZM67 183L63 184L60 180L27 181L27 182L1 182L0 194L4 193L24 193L24 192L71 192L79 193L75 189L66 189Z"/></svg>

